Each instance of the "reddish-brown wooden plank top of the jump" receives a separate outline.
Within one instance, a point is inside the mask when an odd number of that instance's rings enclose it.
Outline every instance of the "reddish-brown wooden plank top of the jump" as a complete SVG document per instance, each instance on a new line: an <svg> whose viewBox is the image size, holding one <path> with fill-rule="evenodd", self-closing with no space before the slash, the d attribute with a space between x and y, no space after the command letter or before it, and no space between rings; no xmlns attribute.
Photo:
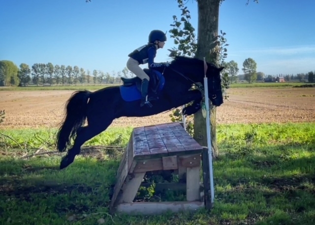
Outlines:
<svg viewBox="0 0 315 225"><path fill-rule="evenodd" d="M136 127L132 141L136 159L202 152L202 146L178 122Z"/></svg>

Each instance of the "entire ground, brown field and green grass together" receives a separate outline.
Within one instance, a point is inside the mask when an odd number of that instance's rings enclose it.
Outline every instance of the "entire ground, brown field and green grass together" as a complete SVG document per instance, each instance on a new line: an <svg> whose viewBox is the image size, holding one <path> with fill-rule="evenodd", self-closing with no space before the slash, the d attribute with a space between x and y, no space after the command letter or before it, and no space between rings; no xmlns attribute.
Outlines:
<svg viewBox="0 0 315 225"><path fill-rule="evenodd" d="M54 134L73 89L1 90L0 224L315 224L315 88L242 85L228 89L230 100L217 109L214 209L152 217L109 215L108 204L132 128L170 122L171 112L115 120L60 171L64 153L54 152Z"/></svg>

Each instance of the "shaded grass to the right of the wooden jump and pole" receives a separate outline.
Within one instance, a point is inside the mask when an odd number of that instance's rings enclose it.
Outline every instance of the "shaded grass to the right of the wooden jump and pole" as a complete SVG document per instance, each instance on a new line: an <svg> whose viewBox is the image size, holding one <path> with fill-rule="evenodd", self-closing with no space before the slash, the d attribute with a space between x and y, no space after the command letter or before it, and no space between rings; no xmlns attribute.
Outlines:
<svg viewBox="0 0 315 225"><path fill-rule="evenodd" d="M314 144L233 151L214 163L220 224L315 224Z"/></svg>

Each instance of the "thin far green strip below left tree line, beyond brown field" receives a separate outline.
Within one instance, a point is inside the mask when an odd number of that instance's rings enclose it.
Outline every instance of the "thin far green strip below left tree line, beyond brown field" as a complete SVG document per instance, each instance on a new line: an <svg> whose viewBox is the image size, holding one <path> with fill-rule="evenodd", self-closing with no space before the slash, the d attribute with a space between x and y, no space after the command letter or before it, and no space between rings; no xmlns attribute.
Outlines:
<svg viewBox="0 0 315 225"><path fill-rule="evenodd" d="M113 86L113 85L119 85L119 84L104 84L104 85L80 85L78 84L77 86L71 85L64 85L64 86L26 86L26 87L0 87L0 91L21 91L21 90L98 90L107 86Z"/></svg>

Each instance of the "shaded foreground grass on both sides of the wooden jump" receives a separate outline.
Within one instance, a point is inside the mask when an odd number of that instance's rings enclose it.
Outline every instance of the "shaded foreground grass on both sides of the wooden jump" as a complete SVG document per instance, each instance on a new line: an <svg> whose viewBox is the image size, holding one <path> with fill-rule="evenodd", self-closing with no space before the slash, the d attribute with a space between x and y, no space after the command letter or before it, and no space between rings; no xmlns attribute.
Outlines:
<svg viewBox="0 0 315 225"><path fill-rule="evenodd" d="M178 223L315 224L313 149L314 146L310 145L277 145L243 148L234 153L226 150L214 162L214 209L210 214L200 211L195 216L187 217L184 222L182 219L185 216L180 214ZM118 157L114 160L83 153L63 170L58 169L60 159L53 156L0 160L0 192L3 202L13 198L21 205L26 202L44 204L48 207L48 212L60 216L69 212L97 212L99 208L106 212L115 185ZM17 213L18 206L14 211L0 204L0 216L8 217L11 213L9 210ZM130 218L116 217L116 220L128 224ZM139 225L150 224L150 221L158 220L157 218L159 221L163 219L158 216L132 218ZM172 218L174 216L165 217L165 224L170 224ZM111 224L110 220L108 224Z"/></svg>

